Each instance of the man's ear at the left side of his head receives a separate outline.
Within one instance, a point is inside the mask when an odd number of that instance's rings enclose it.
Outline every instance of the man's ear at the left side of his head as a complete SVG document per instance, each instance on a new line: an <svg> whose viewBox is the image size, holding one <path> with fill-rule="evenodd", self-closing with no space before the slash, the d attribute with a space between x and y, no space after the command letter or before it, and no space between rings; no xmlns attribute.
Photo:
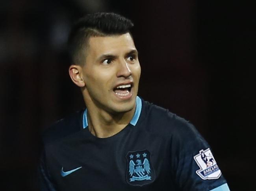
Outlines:
<svg viewBox="0 0 256 191"><path fill-rule="evenodd" d="M82 67L80 65L70 65L69 76L71 80L79 87L84 87L85 82L82 75Z"/></svg>

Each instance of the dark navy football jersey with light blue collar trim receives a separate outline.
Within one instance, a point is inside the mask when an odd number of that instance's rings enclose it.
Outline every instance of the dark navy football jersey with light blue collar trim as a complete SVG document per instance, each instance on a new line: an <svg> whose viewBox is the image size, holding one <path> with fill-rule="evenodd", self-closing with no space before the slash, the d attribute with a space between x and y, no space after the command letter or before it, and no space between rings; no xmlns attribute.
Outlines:
<svg viewBox="0 0 256 191"><path fill-rule="evenodd" d="M137 97L116 135L97 138L87 126L85 109L46 130L42 191L229 191L207 142L166 109Z"/></svg>

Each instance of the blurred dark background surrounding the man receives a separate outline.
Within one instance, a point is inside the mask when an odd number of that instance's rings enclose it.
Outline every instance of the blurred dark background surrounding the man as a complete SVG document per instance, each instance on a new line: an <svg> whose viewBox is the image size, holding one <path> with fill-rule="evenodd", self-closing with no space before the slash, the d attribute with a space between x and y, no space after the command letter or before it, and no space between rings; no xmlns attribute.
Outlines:
<svg viewBox="0 0 256 191"><path fill-rule="evenodd" d="M139 96L191 121L231 191L255 190L255 7L197 0L12 0L0 6L0 185L37 191L40 133L84 107L65 43L86 13L134 21Z"/></svg>

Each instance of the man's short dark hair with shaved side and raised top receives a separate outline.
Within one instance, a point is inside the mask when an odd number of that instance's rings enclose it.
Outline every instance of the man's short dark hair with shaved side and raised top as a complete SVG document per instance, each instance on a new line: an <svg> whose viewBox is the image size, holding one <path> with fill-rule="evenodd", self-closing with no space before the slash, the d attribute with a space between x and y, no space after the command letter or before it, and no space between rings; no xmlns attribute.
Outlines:
<svg viewBox="0 0 256 191"><path fill-rule="evenodd" d="M82 64L88 39L91 36L112 36L130 33L131 20L116 13L94 13L80 18L72 28L68 50L72 64Z"/></svg>

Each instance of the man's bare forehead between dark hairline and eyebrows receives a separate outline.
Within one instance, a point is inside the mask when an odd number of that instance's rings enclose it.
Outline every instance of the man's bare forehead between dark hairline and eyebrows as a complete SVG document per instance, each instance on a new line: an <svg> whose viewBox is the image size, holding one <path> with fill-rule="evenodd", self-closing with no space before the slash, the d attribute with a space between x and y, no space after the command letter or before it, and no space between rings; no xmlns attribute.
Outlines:
<svg viewBox="0 0 256 191"><path fill-rule="evenodd" d="M89 55L118 54L135 49L130 33L113 36L93 36L89 38Z"/></svg>

